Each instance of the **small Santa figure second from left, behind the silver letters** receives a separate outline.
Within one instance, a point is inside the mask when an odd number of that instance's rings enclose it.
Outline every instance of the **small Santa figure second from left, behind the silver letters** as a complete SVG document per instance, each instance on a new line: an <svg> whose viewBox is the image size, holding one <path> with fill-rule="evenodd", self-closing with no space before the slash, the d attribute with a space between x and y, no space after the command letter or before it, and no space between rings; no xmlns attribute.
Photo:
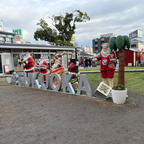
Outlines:
<svg viewBox="0 0 144 144"><path fill-rule="evenodd" d="M46 81L46 75L48 73L48 68L49 65L47 63L47 61L45 60L44 56L41 56L40 62L39 62L39 73L43 74L43 79L44 82Z"/></svg>

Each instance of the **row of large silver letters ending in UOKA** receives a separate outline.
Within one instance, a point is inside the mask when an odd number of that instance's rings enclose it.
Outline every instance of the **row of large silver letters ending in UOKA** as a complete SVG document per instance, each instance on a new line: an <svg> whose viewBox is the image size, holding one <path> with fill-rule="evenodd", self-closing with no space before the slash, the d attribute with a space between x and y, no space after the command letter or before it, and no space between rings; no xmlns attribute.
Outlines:
<svg viewBox="0 0 144 144"><path fill-rule="evenodd" d="M40 79L38 79L38 75ZM44 76L46 77L46 81L44 82ZM77 94L81 95L82 92L85 92L87 96L92 96L92 91L90 85L88 83L88 79L86 75L80 75L79 83L78 83L78 90L77 93L74 91L74 88L71 84L72 74L64 73L62 75L62 79L59 74L39 74L38 72L35 73L28 73L26 75L25 72L14 72L11 77L11 82L17 85L23 85L25 87L36 87L38 89L52 89L53 91L63 91L64 93L69 92L70 94ZM55 78L57 79L58 86L55 85ZM62 87L61 87L62 86Z"/></svg>

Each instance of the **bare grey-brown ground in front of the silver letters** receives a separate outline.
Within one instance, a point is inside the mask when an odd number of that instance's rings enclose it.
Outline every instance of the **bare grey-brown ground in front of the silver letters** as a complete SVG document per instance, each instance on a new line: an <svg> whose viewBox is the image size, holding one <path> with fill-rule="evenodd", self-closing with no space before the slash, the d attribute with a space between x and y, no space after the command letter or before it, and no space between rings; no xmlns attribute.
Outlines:
<svg viewBox="0 0 144 144"><path fill-rule="evenodd" d="M144 96L130 103L0 81L0 144L143 144Z"/></svg>

